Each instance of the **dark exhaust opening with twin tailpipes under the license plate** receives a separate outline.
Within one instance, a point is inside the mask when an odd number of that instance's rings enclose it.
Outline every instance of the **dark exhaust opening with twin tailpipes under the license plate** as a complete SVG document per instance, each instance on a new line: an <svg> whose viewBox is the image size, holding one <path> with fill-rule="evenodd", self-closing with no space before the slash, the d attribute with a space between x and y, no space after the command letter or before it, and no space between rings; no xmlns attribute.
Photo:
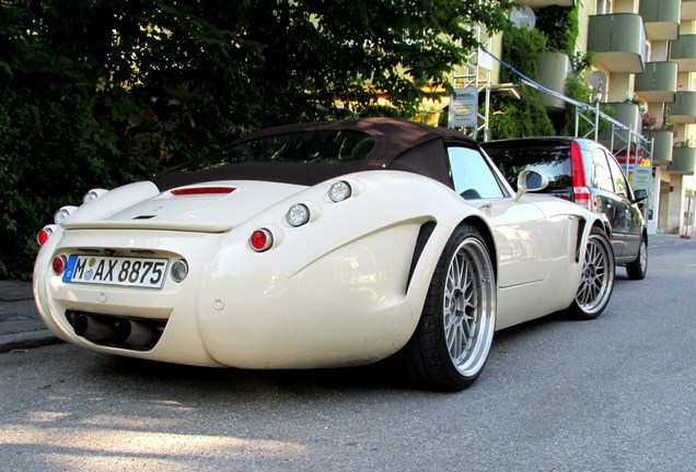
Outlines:
<svg viewBox="0 0 696 472"><path fill-rule="evenodd" d="M69 320L77 335L103 345L149 351L162 335L162 329L159 327L129 318L72 314Z"/></svg>

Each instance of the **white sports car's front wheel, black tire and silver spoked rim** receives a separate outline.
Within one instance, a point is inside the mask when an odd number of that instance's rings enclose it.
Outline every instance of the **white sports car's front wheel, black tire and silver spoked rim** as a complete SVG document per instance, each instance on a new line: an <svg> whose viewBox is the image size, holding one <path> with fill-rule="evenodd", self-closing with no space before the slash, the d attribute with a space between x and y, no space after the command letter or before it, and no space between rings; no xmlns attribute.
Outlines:
<svg viewBox="0 0 696 472"><path fill-rule="evenodd" d="M568 308L570 315L578 319L599 317L614 290L615 264L612 243L606 233L593 227L585 247L582 278L576 298Z"/></svg>

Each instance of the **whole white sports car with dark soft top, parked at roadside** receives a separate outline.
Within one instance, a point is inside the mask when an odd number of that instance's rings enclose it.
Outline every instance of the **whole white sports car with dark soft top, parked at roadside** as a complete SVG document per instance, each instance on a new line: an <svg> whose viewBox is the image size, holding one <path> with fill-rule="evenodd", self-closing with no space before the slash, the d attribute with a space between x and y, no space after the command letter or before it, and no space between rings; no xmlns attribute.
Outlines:
<svg viewBox="0 0 696 472"><path fill-rule="evenodd" d="M262 130L151 181L88 192L39 233L46 324L94 351L200 366L355 366L429 388L480 374L494 330L594 318L605 224L471 139L388 118Z"/></svg>

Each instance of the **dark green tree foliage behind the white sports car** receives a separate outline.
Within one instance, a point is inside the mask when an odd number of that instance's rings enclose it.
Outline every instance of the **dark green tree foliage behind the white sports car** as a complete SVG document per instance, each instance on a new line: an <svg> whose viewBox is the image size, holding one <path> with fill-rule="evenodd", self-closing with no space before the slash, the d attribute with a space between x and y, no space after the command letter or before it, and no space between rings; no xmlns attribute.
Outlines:
<svg viewBox="0 0 696 472"><path fill-rule="evenodd" d="M90 187L260 127L384 113L376 92L408 116L476 45L467 24L499 30L509 7L0 0L0 276L26 273L36 231Z"/></svg>

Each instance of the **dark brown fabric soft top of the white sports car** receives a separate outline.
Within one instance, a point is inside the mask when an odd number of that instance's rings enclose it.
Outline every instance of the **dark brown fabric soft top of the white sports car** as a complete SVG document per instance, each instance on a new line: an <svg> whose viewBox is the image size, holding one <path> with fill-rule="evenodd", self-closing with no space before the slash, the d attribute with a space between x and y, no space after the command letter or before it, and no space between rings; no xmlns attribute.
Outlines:
<svg viewBox="0 0 696 472"><path fill-rule="evenodd" d="M164 191L185 185L212 180L267 180L315 185L359 170L407 170L452 186L443 143L474 141L459 131L394 118L357 118L267 128L243 137L224 149L268 137L311 131L360 131L374 139L374 145L361 161L341 163L242 162L192 172L187 164L153 178ZM223 149L223 150L224 150Z"/></svg>

